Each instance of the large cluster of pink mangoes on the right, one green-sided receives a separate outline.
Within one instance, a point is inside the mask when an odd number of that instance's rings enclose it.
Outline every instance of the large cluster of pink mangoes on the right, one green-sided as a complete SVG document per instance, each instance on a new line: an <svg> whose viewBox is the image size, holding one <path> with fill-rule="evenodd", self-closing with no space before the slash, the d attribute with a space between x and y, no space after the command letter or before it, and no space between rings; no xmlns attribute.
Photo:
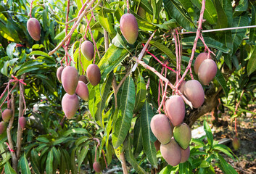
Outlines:
<svg viewBox="0 0 256 174"><path fill-rule="evenodd" d="M207 53L201 53L194 62L194 71L203 85L207 85L215 77L217 65L207 59ZM199 108L205 101L205 92L197 80L183 80L179 86L181 93L191 101L194 108ZM160 141L160 152L169 165L176 166L189 159L191 130L186 123L185 103L181 96L173 95L165 101L165 115L154 115L150 127L154 136Z"/></svg>

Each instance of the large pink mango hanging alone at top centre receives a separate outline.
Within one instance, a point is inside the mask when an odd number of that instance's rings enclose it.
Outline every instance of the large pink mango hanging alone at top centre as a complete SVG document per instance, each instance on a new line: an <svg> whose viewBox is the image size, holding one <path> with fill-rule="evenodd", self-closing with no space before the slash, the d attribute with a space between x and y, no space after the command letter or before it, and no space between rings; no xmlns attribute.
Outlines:
<svg viewBox="0 0 256 174"><path fill-rule="evenodd" d="M139 34L139 27L133 14L123 14L120 19L120 29L128 43L133 44L136 42Z"/></svg>

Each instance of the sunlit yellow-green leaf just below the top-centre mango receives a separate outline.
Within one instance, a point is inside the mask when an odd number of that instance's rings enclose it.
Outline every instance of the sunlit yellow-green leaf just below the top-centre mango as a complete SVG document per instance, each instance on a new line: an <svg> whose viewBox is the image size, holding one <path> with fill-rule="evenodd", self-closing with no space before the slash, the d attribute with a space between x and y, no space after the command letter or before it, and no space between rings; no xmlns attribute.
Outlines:
<svg viewBox="0 0 256 174"><path fill-rule="evenodd" d="M127 54L128 52L125 49L120 49L115 45L110 46L98 64L102 79L105 79L117 65L123 62Z"/></svg>

